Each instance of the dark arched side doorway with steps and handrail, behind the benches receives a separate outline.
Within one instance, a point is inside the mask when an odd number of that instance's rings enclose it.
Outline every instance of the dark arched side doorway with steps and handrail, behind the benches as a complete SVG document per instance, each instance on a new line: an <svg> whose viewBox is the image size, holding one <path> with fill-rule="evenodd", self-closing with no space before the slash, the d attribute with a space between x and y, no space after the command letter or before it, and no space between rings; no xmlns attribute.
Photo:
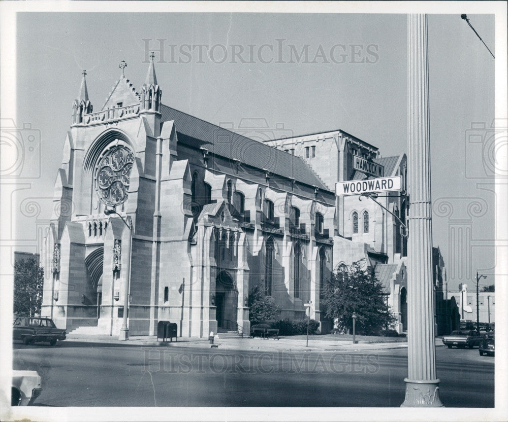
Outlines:
<svg viewBox="0 0 508 422"><path fill-rule="evenodd" d="M218 328L227 328L228 321L236 323L238 290L228 271L221 271L215 279L215 319Z"/></svg>

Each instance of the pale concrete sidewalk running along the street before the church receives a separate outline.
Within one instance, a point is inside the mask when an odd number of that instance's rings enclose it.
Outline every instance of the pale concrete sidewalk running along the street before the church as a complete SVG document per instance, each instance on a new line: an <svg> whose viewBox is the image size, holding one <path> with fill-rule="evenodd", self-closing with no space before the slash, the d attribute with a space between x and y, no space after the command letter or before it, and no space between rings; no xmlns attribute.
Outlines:
<svg viewBox="0 0 508 422"><path fill-rule="evenodd" d="M155 336L132 336L127 341L120 341L111 336L73 335L67 336L69 341L83 341L87 343L115 343L121 345L158 346L158 347L198 347L211 348L208 339L179 337L177 341L158 340ZM306 339L281 337L279 340L261 338L215 338L214 350L243 350L243 351L367 351L407 348L407 342L357 342L351 340L315 340L309 338L306 347ZM442 345L436 339L436 345Z"/></svg>

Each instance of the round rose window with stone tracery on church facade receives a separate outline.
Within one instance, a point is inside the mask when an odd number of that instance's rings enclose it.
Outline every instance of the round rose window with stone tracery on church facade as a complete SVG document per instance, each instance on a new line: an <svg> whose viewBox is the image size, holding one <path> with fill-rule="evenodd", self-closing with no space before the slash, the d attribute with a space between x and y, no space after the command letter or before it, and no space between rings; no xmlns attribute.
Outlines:
<svg viewBox="0 0 508 422"><path fill-rule="evenodd" d="M124 146L107 150L96 167L96 189L106 205L116 206L127 200L129 176L134 154Z"/></svg>

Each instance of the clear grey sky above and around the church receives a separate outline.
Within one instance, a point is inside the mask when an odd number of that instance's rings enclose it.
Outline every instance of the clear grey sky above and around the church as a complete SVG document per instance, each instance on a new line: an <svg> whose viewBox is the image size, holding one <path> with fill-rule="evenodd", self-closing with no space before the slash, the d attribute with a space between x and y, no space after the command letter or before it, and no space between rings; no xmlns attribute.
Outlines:
<svg viewBox="0 0 508 422"><path fill-rule="evenodd" d="M467 15L495 54L494 16ZM266 138L342 129L382 156L398 155L407 152L406 21L375 13L19 13L14 120L18 129L31 124L23 142L33 133L37 145L26 147L22 168L3 158L4 168L21 168L3 178L12 182L4 193L15 191L2 223L12 248L38 252L42 244L83 69L94 111L121 60L141 89L154 51L170 107ZM459 13L430 14L428 37L433 244L449 290L471 289L476 271L487 286L495 279L495 60Z"/></svg>

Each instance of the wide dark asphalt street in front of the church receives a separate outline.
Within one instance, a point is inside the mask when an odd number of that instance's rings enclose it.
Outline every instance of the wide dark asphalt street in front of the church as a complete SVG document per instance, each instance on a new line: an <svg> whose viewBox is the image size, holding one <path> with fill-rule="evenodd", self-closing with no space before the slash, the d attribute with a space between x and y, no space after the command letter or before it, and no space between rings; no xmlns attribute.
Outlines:
<svg viewBox="0 0 508 422"><path fill-rule="evenodd" d="M13 344L14 369L37 370L36 406L398 407L407 349L234 351L66 340ZM494 406L494 358L436 348L447 407Z"/></svg>

